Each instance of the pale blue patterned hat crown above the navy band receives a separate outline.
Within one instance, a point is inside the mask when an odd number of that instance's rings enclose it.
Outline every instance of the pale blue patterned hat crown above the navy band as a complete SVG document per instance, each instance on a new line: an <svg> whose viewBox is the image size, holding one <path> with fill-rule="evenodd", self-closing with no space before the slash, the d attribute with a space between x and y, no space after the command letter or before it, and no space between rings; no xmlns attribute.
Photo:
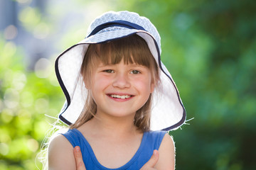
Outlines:
<svg viewBox="0 0 256 170"><path fill-rule="evenodd" d="M135 23L138 26L141 26L146 30L147 33L153 36L153 38L156 40L157 46L159 47L159 50L161 52L161 38L156 30L156 27L149 21L148 18L145 18L144 16L139 16L138 13L129 12L129 11L109 11L107 13L103 13L102 16L99 16L98 18L93 21L88 30L87 30L87 36L92 33L97 26L100 26L104 23L112 22L112 21L128 21L130 23ZM114 26L115 28L118 26ZM124 28L127 29L127 28ZM100 32L99 32L100 33Z"/></svg>

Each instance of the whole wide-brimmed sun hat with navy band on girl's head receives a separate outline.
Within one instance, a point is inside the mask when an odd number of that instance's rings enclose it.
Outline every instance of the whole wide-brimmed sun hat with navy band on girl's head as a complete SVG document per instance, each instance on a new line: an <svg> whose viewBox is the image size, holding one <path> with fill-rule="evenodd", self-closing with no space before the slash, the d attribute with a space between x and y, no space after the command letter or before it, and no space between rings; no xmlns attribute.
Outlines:
<svg viewBox="0 0 256 170"><path fill-rule="evenodd" d="M144 38L159 65L161 88L153 93L150 130L175 130L186 120L186 111L176 84L161 62L160 36L148 18L129 11L109 11L90 24L87 36L69 47L55 61L55 73L66 101L59 118L70 125L78 119L85 103L85 84L80 76L83 57L90 44L137 34Z"/></svg>

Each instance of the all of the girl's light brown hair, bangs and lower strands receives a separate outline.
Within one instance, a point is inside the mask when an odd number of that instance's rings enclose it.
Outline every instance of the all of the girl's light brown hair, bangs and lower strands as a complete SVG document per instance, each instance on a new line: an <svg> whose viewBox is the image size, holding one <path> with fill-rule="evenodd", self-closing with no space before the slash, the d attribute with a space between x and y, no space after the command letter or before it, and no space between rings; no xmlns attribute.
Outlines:
<svg viewBox="0 0 256 170"><path fill-rule="evenodd" d="M80 70L85 86L89 86L92 77L92 68L95 67L96 62L99 60L103 64L118 64L123 61L124 64L135 63L143 65L151 71L154 86L157 86L159 82L159 69L156 61L146 41L139 35L134 34L117 40L89 45ZM134 116L134 125L138 130L142 130L142 132L148 131L150 128L151 103L152 96L150 94L144 106ZM78 128L92 119L96 111L96 103L90 94L90 90L87 90L87 98L83 111L78 120L70 125L70 129Z"/></svg>

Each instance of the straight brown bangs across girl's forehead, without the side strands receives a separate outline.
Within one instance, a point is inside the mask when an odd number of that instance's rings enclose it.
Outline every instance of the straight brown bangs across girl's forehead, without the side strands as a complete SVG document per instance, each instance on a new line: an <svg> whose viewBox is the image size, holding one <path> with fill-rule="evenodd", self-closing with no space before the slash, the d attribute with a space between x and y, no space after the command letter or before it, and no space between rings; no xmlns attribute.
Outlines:
<svg viewBox="0 0 256 170"><path fill-rule="evenodd" d="M90 46L94 46L92 47L94 56L106 65L124 62L124 64L139 64L151 69L155 62L146 41L136 34Z"/></svg>

